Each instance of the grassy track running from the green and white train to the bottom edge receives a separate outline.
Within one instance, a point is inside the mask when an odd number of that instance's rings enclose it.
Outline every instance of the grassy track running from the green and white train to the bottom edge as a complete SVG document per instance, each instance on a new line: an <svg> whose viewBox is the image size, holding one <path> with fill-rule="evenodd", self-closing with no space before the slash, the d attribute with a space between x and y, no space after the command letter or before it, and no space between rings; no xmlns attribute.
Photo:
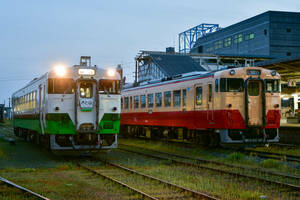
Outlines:
<svg viewBox="0 0 300 200"><path fill-rule="evenodd" d="M99 158L96 158L97 160L106 163L107 165L110 165L112 169L109 169L108 171L102 170L99 172L98 170L91 169L81 163L78 163L78 166L86 169L90 172L92 172L95 175L101 176L103 178L106 178L114 183L117 183L123 187L128 188L131 191L134 191L138 195L141 195L143 198L147 199L208 199L208 200L217 200L217 198L212 197L210 195L207 195L205 193L197 192L194 190L190 190L188 188L181 187L179 185L164 181L162 179L140 173L138 171L135 171L133 169L127 168L125 166L117 165L114 163L111 163L107 160L102 160ZM147 192L141 191L138 189L138 185L136 187L130 186L129 184L124 183L120 179L120 171L125 172L121 173L123 177L128 177L128 174L131 174L131 177L134 176L135 183L140 183L143 179L143 190L147 190ZM114 178L113 176L118 176L119 178ZM121 178L122 179L122 178ZM148 181L145 183L145 181ZM153 184L155 183L155 184ZM158 183L158 184L157 184ZM150 186L150 189L149 189ZM167 186L167 187L166 187Z"/></svg>

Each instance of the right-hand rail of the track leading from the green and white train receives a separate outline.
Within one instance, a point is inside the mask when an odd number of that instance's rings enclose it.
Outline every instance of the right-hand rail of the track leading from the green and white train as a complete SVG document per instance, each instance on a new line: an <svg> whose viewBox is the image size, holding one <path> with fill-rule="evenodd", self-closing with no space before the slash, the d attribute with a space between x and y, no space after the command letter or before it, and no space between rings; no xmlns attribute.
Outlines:
<svg viewBox="0 0 300 200"><path fill-rule="evenodd" d="M173 187L175 189L179 189L183 192L189 192L192 194L193 197L197 197L197 198L201 198L201 199L209 199L209 200L218 200L218 198L215 198L215 197L212 197L208 194L205 194L203 192L198 192L198 191L195 191L195 190L191 190L191 189L188 189L188 188L185 188L185 187L182 187L182 186L179 186L177 184L174 184L174 183L170 183L168 181L165 181L165 180L162 180L162 179L159 179L159 178L156 178L156 177L153 177L153 176L150 176L150 175L147 175L147 174L143 174L141 172L138 172L136 170L133 170L133 169L130 169L130 168L127 168L127 167L124 167L124 166L121 166L121 165L118 165L118 164L115 164L115 163L112 163L112 162L109 162L107 160L102 160L100 158L96 158L97 160L100 160L101 162L104 162L106 164L109 164L113 167L116 167L116 168L119 168L119 169L122 169L124 171L127 171L127 172L130 172L132 174L137 174L137 175L140 175L142 176L143 178L148 178L150 180L155 180L159 183L162 183L162 184L165 184L169 187Z"/></svg>

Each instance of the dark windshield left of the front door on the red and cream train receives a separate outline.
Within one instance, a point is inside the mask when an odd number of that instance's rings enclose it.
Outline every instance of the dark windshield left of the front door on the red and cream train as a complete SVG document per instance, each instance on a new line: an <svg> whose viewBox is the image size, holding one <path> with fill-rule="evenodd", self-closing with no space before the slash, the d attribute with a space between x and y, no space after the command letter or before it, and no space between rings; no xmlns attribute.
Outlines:
<svg viewBox="0 0 300 200"><path fill-rule="evenodd" d="M244 79L242 78L221 78L221 92L242 92L244 91Z"/></svg>

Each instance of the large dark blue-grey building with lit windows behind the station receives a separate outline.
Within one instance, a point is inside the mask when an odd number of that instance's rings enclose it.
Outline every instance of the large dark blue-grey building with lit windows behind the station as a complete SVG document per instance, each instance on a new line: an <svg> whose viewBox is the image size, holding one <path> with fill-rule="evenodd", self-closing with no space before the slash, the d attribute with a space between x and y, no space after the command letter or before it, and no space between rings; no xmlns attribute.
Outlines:
<svg viewBox="0 0 300 200"><path fill-rule="evenodd" d="M190 53L273 58L300 55L300 13L267 11L226 28L218 28L197 38Z"/></svg>

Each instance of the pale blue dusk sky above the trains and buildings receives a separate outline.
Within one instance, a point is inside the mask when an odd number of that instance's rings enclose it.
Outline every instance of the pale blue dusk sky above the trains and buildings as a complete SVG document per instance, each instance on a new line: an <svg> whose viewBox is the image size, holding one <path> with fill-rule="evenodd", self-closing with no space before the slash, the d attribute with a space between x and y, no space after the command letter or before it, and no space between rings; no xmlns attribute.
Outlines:
<svg viewBox="0 0 300 200"><path fill-rule="evenodd" d="M140 50L178 50L178 33L226 27L268 10L300 12L299 0L7 0L0 6L0 103L57 63L81 55L101 68L122 64L133 80Z"/></svg>

